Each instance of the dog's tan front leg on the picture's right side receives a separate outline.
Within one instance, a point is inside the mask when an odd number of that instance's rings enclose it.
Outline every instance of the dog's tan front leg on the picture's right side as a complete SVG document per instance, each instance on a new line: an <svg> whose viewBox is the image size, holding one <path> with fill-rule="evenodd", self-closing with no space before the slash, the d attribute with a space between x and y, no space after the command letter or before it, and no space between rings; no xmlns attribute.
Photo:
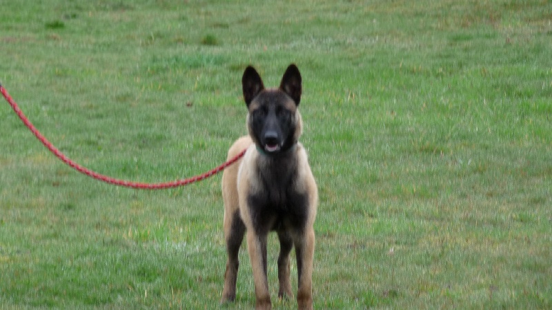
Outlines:
<svg viewBox="0 0 552 310"><path fill-rule="evenodd" d="M308 227L303 238L296 238L295 251L297 254L297 289L298 308L313 309L313 256L315 252L315 231Z"/></svg>

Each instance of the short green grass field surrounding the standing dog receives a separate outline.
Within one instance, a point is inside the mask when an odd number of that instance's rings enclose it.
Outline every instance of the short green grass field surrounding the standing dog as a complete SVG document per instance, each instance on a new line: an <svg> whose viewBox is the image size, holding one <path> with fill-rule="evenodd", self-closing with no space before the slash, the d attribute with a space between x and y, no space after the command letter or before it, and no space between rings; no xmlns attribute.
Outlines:
<svg viewBox="0 0 552 310"><path fill-rule="evenodd" d="M219 165L297 63L316 309L552 308L552 1L3 1L0 81L70 157ZM219 307L220 176L63 165L0 104L0 307ZM270 289L277 300L275 236ZM237 302L250 309L242 251ZM292 267L293 284L297 285Z"/></svg>

